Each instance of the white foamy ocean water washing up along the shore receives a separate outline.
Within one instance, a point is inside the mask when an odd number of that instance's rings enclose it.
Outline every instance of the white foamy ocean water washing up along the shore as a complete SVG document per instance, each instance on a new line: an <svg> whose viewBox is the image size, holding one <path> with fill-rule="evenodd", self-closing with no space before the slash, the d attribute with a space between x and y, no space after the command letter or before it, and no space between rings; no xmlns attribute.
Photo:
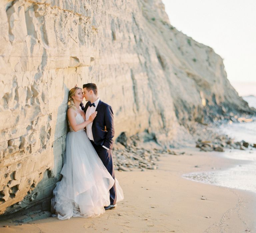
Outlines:
<svg viewBox="0 0 256 233"><path fill-rule="evenodd" d="M256 97L243 97L250 107L256 108ZM256 117L252 122L233 123L221 126L221 131L235 140L256 144ZM247 190L256 193L256 148L248 150L226 149L220 156L240 160L238 165L224 169L184 174L186 179Z"/></svg>

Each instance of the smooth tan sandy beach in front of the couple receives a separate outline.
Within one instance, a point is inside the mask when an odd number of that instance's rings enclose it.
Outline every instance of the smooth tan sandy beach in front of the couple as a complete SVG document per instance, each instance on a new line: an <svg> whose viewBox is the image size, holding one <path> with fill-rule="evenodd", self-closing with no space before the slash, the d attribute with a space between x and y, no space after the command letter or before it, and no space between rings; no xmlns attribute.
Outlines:
<svg viewBox="0 0 256 233"><path fill-rule="evenodd" d="M184 173L225 169L243 161L196 148L175 151L185 154L163 155L157 170L116 171L125 200L99 217L50 217L23 225L1 221L0 232L256 232L254 193L182 178Z"/></svg>

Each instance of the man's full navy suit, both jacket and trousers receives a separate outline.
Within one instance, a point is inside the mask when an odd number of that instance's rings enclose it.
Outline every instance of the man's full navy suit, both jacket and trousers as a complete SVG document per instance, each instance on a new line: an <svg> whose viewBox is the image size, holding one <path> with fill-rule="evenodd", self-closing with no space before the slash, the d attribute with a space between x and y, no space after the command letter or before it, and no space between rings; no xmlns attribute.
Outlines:
<svg viewBox="0 0 256 233"><path fill-rule="evenodd" d="M84 113L89 107L87 102L85 106L80 104ZM113 148L113 137L114 137L114 115L111 106L102 102L98 103L96 108L97 116L92 123L92 134L94 141L91 140L93 147L95 148L97 154L99 155L104 166L107 168L110 175L115 179L114 167L112 161L112 148ZM106 148L103 147L103 145ZM109 190L110 193L110 204L116 204L116 183Z"/></svg>

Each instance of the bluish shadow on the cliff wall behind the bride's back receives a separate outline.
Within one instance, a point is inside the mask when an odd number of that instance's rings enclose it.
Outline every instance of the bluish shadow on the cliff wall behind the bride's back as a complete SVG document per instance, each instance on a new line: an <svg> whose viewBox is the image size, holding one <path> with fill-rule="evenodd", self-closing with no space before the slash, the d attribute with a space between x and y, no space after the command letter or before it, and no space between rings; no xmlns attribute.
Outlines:
<svg viewBox="0 0 256 233"><path fill-rule="evenodd" d="M66 135L67 135L67 102L69 89L63 84L64 97L57 110L54 138L51 147L51 165L46 166L44 171L39 173L41 180L35 187L27 192L27 195L22 201L19 201L5 210L6 214L1 215L1 219L12 219L13 221L24 222L33 220L26 214L37 213L40 211L50 211L52 191L56 183L61 179L60 171L63 166L65 150L66 150ZM43 127L41 125L40 127Z"/></svg>

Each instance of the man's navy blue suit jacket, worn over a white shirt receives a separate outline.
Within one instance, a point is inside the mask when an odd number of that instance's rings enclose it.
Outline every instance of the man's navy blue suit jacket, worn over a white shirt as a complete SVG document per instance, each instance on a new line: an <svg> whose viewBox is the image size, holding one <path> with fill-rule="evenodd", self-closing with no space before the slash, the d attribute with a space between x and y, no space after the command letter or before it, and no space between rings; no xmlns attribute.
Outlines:
<svg viewBox="0 0 256 233"><path fill-rule="evenodd" d="M85 106L81 103L80 106L84 113L86 113L86 110L89 107L89 102L87 102ZM112 149L113 137L115 134L114 114L112 108L100 100L95 111L97 111L97 116L92 122L94 143L96 145L104 145L107 148Z"/></svg>

